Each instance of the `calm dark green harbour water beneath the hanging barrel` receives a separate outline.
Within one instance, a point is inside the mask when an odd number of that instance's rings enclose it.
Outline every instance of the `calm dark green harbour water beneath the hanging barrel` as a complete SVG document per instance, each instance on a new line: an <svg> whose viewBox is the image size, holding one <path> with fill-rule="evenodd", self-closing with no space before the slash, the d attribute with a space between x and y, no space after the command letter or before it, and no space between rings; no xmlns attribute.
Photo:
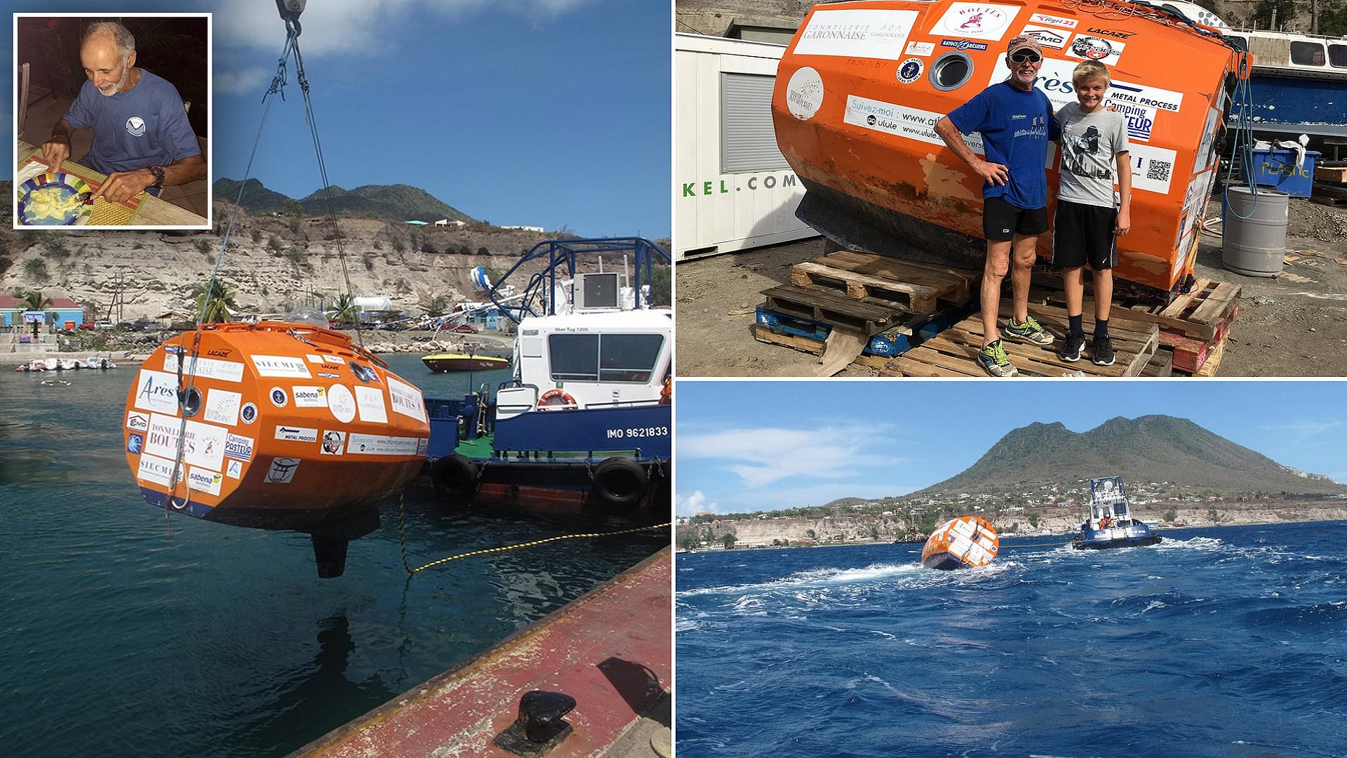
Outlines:
<svg viewBox="0 0 1347 758"><path fill-rule="evenodd" d="M391 363L431 397L508 376ZM667 533L563 540L408 580L392 502L350 544L346 573L319 580L304 534L145 503L121 440L136 371L0 372L5 758L283 755L668 544ZM630 526L488 519L428 498L405 500L412 566Z"/></svg>

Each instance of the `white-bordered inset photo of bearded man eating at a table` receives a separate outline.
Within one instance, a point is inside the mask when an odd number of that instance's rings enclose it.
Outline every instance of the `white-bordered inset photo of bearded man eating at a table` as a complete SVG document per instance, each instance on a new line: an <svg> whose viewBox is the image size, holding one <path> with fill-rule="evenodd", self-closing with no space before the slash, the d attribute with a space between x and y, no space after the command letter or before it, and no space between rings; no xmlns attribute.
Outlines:
<svg viewBox="0 0 1347 758"><path fill-rule="evenodd" d="M13 15L13 228L211 228L211 15Z"/></svg>

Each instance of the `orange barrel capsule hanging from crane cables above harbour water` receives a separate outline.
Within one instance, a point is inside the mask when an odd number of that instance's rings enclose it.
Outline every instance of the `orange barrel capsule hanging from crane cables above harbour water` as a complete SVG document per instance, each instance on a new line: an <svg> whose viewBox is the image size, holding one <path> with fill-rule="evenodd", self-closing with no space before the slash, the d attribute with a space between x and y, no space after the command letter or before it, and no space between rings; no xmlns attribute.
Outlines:
<svg viewBox="0 0 1347 758"><path fill-rule="evenodd" d="M403 490L430 424L420 390L346 334L264 321L159 345L127 395L124 437L150 503L317 535Z"/></svg>

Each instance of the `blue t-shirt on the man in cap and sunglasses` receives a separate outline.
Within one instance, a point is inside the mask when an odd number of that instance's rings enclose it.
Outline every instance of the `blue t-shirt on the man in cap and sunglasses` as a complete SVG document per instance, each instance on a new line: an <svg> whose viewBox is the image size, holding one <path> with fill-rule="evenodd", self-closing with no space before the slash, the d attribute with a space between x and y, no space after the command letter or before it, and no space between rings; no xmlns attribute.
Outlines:
<svg viewBox="0 0 1347 758"><path fill-rule="evenodd" d="M1010 173L1004 185L982 185L982 198L1005 197L1016 208L1045 208L1048 142L1060 138L1052 103L1039 88L1025 92L1004 81L955 108L950 121L963 134L981 132L986 159Z"/></svg>

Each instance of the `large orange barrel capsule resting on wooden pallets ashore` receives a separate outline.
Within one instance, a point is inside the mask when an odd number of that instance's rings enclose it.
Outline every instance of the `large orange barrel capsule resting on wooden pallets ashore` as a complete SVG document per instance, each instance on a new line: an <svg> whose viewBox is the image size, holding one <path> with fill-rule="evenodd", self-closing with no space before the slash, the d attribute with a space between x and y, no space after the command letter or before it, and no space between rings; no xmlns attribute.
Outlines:
<svg viewBox="0 0 1347 758"><path fill-rule="evenodd" d="M1020 34L1043 46L1034 86L1053 109L1076 101L1071 74L1082 61L1111 71L1106 107L1127 120L1133 187L1131 232L1118 237L1114 271L1140 294L1169 290L1192 271L1231 93L1251 59L1215 30L1160 8L1114 0L815 5L781 57L772 96L777 144L806 187L796 214L851 250L982 268L982 177L933 127L1009 77L1006 43ZM966 142L982 152L981 135ZM1060 165L1051 147L1049 217ZM1039 255L1051 252L1044 235Z"/></svg>

